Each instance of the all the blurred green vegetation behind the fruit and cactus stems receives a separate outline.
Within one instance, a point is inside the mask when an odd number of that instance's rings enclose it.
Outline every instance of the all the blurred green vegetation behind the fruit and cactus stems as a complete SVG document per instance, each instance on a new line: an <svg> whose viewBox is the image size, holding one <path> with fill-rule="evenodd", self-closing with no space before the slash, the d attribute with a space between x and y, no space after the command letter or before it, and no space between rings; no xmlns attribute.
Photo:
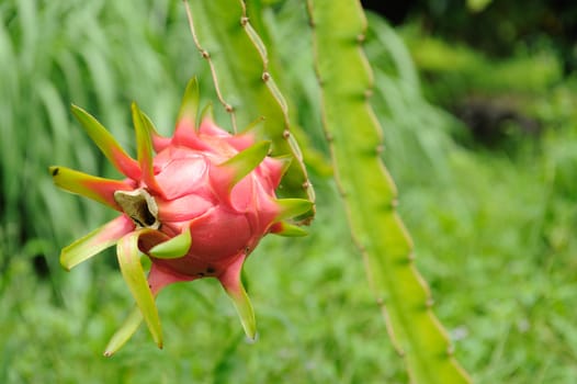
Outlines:
<svg viewBox="0 0 577 384"><path fill-rule="evenodd" d="M502 26L504 1L478 13L441 3L411 2L395 27L370 14L365 46L417 264L475 382L572 382L577 78L575 47L559 48L570 25ZM104 359L132 307L115 259L72 273L57 260L109 212L56 190L46 169L115 174L68 105L134 149L132 100L169 133L186 80L210 78L179 1L0 3L0 382L406 382L328 177L303 7L249 1L309 142L318 196L310 236L265 238L249 258L259 340L245 341L220 287L203 280L160 295L165 350L140 330ZM509 31L495 46L467 38L488 15Z"/></svg>

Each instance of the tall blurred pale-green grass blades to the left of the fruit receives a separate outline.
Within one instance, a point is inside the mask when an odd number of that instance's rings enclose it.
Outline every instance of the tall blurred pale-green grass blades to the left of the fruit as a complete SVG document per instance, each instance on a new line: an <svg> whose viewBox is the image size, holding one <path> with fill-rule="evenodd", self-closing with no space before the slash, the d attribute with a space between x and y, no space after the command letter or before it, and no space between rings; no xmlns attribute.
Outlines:
<svg viewBox="0 0 577 384"><path fill-rule="evenodd" d="M189 34L176 27L182 14L169 1L7 1L0 15L0 260L5 266L30 244L34 249L27 250L46 253L57 271L58 251L45 240L68 241L102 223L105 213L56 191L44 177L46 167L111 172L68 105L102 116L131 148L129 102L137 98L160 127L170 128L181 84L191 75L178 63L192 64L193 49L179 48L189 46Z"/></svg>

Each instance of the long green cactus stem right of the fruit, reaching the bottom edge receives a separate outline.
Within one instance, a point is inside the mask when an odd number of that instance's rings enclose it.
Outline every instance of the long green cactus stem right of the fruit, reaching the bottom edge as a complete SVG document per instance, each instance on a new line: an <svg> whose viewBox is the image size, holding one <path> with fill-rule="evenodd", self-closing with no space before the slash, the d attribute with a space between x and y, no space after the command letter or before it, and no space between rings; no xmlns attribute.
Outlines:
<svg viewBox="0 0 577 384"><path fill-rule="evenodd" d="M412 242L396 213L397 191L380 153L382 132L367 102L372 71L362 50L358 0L307 0L323 113L339 189L376 301L411 382L468 383L431 310Z"/></svg>

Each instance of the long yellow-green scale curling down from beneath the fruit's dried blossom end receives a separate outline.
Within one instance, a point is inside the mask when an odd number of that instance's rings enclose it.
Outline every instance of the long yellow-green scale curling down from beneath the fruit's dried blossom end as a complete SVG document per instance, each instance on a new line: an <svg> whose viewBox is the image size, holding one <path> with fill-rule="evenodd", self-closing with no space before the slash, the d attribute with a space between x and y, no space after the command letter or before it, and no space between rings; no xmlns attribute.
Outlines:
<svg viewBox="0 0 577 384"><path fill-rule="evenodd" d="M152 339L159 348L162 348L162 330L160 318L155 304L152 292L148 286L147 279L140 264L140 250L138 249L138 238L143 234L156 233L155 229L139 229L125 235L118 241L116 255L121 267L122 276L128 285L131 293L140 309L143 317L148 326Z"/></svg>

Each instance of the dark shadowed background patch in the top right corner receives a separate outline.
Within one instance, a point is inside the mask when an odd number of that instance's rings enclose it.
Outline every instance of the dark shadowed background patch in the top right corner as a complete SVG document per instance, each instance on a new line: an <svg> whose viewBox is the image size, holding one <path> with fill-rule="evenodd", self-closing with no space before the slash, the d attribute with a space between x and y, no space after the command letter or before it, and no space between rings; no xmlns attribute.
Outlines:
<svg viewBox="0 0 577 384"><path fill-rule="evenodd" d="M566 71L577 69L577 5L541 0L412 0L404 15L428 33L506 58L519 43L546 45Z"/></svg>

